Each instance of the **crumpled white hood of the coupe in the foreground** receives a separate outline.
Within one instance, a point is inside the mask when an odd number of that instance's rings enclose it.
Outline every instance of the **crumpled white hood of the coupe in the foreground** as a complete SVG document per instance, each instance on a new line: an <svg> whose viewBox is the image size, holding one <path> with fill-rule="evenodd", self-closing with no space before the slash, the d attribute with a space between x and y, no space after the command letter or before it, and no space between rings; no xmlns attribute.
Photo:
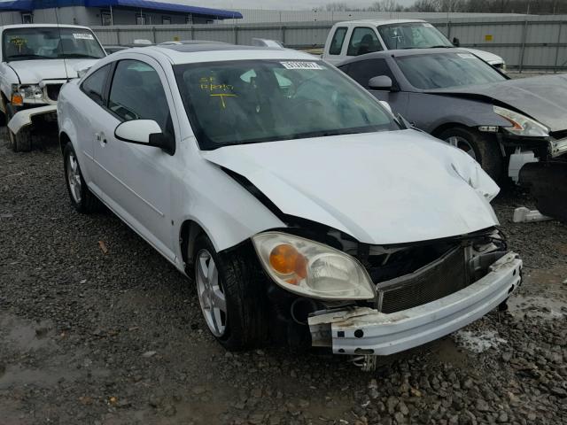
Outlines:
<svg viewBox="0 0 567 425"><path fill-rule="evenodd" d="M362 243L426 241L498 224L489 203L496 183L463 151L415 130L226 146L203 156L245 176L283 213Z"/></svg>

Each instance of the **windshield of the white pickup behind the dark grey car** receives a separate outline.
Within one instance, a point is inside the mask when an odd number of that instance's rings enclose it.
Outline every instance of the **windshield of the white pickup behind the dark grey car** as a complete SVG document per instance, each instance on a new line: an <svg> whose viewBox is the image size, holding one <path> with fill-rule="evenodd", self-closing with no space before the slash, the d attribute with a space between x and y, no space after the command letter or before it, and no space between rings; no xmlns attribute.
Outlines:
<svg viewBox="0 0 567 425"><path fill-rule="evenodd" d="M445 35L427 22L382 25L378 32L388 50L453 47Z"/></svg>

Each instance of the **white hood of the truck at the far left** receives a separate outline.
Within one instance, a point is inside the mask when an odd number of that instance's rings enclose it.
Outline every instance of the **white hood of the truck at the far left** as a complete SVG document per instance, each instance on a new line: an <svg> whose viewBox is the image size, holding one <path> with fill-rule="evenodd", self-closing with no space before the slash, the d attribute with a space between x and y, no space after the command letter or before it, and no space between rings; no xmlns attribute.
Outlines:
<svg viewBox="0 0 567 425"><path fill-rule="evenodd" d="M42 80L77 78L77 69L94 64L98 59L36 59L16 60L9 63L23 84L36 84Z"/></svg>

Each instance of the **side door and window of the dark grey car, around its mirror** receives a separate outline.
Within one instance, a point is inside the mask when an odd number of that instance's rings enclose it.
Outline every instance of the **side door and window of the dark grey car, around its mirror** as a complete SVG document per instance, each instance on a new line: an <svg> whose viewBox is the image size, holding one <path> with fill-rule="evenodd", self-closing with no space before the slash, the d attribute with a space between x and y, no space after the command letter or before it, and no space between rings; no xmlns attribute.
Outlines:
<svg viewBox="0 0 567 425"><path fill-rule="evenodd" d="M377 97L379 100L385 100L392 106L394 113L405 115L408 112L408 93L400 91L398 81L394 77L392 70L388 66L384 58L369 58L366 60L357 60L345 66L339 66L338 69L347 73L354 81L358 82L364 89ZM393 90L375 90L369 89L369 80L379 75L387 75L392 79Z"/></svg>

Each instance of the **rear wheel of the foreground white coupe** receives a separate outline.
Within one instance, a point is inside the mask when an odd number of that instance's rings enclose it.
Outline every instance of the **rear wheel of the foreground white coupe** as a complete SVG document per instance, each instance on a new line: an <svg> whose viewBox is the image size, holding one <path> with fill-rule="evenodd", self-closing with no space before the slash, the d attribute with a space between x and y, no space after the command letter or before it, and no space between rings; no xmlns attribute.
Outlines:
<svg viewBox="0 0 567 425"><path fill-rule="evenodd" d="M63 159L65 182L74 209L83 214L98 211L100 201L92 194L87 183L82 178L81 167L71 143L65 145Z"/></svg>

